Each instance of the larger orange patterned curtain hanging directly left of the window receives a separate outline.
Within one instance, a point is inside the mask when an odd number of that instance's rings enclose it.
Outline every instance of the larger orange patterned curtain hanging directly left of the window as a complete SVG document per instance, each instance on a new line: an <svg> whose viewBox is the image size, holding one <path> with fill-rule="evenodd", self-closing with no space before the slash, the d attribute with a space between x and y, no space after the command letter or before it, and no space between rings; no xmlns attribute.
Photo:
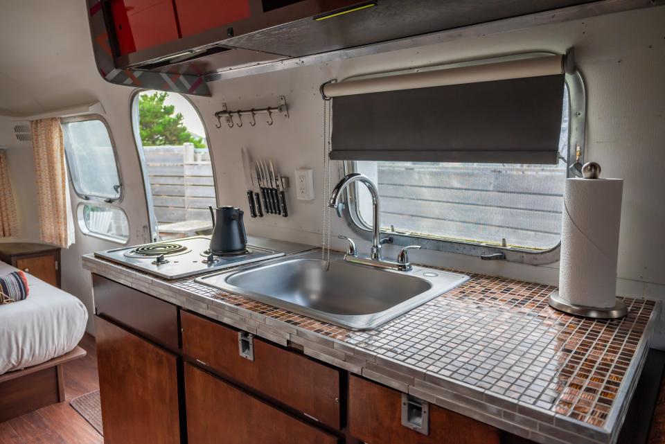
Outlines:
<svg viewBox="0 0 665 444"><path fill-rule="evenodd" d="M37 206L42 240L67 248L73 243L64 139L59 118L30 122L37 175Z"/></svg>

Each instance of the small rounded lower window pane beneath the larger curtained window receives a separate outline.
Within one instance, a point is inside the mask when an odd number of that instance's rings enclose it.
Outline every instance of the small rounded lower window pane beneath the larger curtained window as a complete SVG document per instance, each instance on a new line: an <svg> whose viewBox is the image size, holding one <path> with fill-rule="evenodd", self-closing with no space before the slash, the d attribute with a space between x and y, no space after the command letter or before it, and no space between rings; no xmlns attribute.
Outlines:
<svg viewBox="0 0 665 444"><path fill-rule="evenodd" d="M77 213L82 233L122 244L130 239L127 215L120 208L79 204Z"/></svg>

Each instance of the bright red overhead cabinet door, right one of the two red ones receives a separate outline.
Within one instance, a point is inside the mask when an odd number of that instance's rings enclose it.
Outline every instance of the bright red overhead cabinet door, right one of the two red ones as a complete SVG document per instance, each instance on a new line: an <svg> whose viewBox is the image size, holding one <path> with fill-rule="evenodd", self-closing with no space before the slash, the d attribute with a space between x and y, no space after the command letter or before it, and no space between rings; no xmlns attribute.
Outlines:
<svg viewBox="0 0 665 444"><path fill-rule="evenodd" d="M249 0L175 0L182 37L249 18Z"/></svg>

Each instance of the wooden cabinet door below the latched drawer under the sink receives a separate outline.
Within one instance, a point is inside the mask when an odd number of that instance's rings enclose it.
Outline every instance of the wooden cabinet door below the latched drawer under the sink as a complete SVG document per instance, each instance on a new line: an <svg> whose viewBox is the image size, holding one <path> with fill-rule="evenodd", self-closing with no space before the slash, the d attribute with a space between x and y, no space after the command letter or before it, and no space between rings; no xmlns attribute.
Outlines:
<svg viewBox="0 0 665 444"><path fill-rule="evenodd" d="M337 443L335 436L187 363L185 399L190 444Z"/></svg>

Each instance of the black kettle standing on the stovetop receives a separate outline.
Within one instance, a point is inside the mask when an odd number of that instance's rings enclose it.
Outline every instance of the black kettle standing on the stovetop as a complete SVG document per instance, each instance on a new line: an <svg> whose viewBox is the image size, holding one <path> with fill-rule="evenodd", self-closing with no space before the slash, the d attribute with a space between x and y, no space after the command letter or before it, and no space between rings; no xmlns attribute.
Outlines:
<svg viewBox="0 0 665 444"><path fill-rule="evenodd" d="M218 256L247 253L247 233L242 222L242 210L234 206L210 208L213 218L213 236L210 239L210 252Z"/></svg>

